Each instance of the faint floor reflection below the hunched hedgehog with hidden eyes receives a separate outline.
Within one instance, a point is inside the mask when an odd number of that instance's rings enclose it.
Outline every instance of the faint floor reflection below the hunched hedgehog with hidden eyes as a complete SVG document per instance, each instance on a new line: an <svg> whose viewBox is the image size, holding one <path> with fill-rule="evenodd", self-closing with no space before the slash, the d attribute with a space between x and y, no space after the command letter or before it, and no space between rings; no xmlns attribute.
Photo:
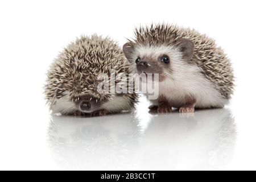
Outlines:
<svg viewBox="0 0 256 182"><path fill-rule="evenodd" d="M72 121L71 121L72 120ZM49 147L64 168L109 169L129 163L139 128L132 114L75 118L51 117Z"/></svg>

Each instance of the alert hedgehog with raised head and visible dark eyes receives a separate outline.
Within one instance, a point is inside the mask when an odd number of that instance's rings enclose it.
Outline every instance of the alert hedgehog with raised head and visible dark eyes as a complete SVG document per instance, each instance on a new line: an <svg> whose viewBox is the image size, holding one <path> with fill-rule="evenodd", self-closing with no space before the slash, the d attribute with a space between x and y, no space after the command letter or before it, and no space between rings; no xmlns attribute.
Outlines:
<svg viewBox="0 0 256 182"><path fill-rule="evenodd" d="M173 24L135 28L123 45L138 74L158 74L158 98L151 111L180 113L224 107L234 90L233 68L221 47L207 35Z"/></svg>

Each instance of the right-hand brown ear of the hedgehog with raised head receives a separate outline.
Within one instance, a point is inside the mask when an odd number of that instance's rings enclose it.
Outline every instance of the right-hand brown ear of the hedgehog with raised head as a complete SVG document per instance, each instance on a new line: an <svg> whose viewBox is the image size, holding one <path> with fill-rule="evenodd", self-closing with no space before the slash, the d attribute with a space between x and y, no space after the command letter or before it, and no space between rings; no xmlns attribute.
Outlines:
<svg viewBox="0 0 256 182"><path fill-rule="evenodd" d="M178 42L180 51L183 53L183 59L191 60L194 53L194 44L192 40L181 38Z"/></svg>

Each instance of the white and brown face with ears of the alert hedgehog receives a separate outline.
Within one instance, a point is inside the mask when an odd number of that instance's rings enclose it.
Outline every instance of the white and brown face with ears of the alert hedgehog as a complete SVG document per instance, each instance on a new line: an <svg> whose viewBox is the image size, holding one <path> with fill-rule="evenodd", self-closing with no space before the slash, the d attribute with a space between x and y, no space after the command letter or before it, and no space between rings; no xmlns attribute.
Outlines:
<svg viewBox="0 0 256 182"><path fill-rule="evenodd" d="M181 62L191 60L193 44L191 40L180 39L172 44L126 43L123 52L138 74L159 74L159 81L172 79L172 73Z"/></svg>

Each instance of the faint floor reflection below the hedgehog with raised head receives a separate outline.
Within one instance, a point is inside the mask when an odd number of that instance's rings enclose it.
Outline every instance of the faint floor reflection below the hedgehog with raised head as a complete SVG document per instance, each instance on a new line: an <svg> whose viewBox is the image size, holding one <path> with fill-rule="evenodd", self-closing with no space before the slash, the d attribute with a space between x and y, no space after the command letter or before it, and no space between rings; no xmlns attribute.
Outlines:
<svg viewBox="0 0 256 182"><path fill-rule="evenodd" d="M146 169L219 169L232 159L236 125L228 109L155 115L141 142L137 158Z"/></svg>

